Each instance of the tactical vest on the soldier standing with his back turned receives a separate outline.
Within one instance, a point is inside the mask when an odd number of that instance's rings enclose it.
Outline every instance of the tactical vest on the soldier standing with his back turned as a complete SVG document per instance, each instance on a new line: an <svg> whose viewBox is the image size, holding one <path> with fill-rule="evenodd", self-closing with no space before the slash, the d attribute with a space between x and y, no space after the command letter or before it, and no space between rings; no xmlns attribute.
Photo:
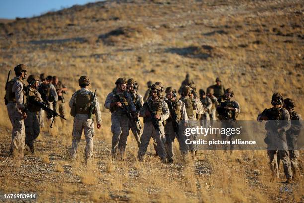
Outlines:
<svg viewBox="0 0 304 203"><path fill-rule="evenodd" d="M93 93L81 94L80 90L76 92L76 113L78 114L89 114L90 103L93 99Z"/></svg>

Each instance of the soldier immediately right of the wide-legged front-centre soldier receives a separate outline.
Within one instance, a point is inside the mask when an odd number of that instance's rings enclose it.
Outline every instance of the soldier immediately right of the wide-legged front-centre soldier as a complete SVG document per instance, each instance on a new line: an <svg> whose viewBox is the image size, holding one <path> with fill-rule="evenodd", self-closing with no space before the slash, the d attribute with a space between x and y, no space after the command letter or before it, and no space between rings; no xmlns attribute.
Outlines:
<svg viewBox="0 0 304 203"><path fill-rule="evenodd" d="M173 163L173 143L175 137L177 137L179 142L179 148L182 154L187 153L187 146L185 146L185 140L180 139L180 136L183 136L179 134L179 126L178 125L184 125L185 122L188 121L188 116L186 112L186 107L184 102L181 100L178 100L176 98L176 90L172 87L166 88L166 100L165 102L168 104L168 108L170 111L170 116L166 120L165 125L165 137L166 137L166 151L167 151L167 158L169 163ZM179 121L182 121L183 123L179 123Z"/></svg>

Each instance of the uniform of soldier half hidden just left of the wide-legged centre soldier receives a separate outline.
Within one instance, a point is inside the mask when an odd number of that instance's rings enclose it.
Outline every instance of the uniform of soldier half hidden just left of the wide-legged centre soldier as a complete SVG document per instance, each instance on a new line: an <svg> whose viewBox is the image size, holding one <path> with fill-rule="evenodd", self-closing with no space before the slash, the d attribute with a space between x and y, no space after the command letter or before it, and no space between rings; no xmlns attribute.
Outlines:
<svg viewBox="0 0 304 203"><path fill-rule="evenodd" d="M133 101L133 103L135 105L135 108L136 108L136 115L138 115L140 109L142 108L142 106L144 104L143 97L136 92L131 93L130 95L131 95L132 101ZM129 121L129 129L130 128L131 128L131 131L132 131L132 133L135 137L137 145L139 147L141 145L140 139L141 139L141 135L143 133L143 130L140 129L139 124L137 122L133 122L133 121Z"/></svg>

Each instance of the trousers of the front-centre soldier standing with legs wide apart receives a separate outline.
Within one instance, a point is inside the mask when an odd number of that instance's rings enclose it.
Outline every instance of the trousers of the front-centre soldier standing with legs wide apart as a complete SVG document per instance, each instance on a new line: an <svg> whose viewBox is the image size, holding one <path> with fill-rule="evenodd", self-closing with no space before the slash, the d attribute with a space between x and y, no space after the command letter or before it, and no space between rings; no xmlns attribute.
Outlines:
<svg viewBox="0 0 304 203"><path fill-rule="evenodd" d="M160 123L159 124L160 132L154 128L151 121L148 121L144 124L144 131L141 136L141 145L138 150L138 159L140 161L143 161L143 158L147 151L151 137L154 139L154 141L157 144L156 151L157 151L158 156L161 159L166 158L167 154L166 154L166 148L165 148L164 127L162 125L162 122L159 122L159 123Z"/></svg>

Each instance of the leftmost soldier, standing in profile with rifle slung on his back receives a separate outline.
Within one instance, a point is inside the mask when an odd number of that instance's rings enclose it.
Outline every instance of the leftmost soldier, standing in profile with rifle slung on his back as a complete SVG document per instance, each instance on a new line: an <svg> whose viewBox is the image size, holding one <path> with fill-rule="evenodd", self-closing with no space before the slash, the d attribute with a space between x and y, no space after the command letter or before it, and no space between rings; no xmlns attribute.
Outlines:
<svg viewBox="0 0 304 203"><path fill-rule="evenodd" d="M9 154L15 156L16 152L23 156L25 147L25 126L24 119L27 115L25 112L23 101L23 82L26 77L27 66L19 64L14 68L16 77L10 80L6 85L5 104L7 104L7 112L12 124L11 145Z"/></svg>

